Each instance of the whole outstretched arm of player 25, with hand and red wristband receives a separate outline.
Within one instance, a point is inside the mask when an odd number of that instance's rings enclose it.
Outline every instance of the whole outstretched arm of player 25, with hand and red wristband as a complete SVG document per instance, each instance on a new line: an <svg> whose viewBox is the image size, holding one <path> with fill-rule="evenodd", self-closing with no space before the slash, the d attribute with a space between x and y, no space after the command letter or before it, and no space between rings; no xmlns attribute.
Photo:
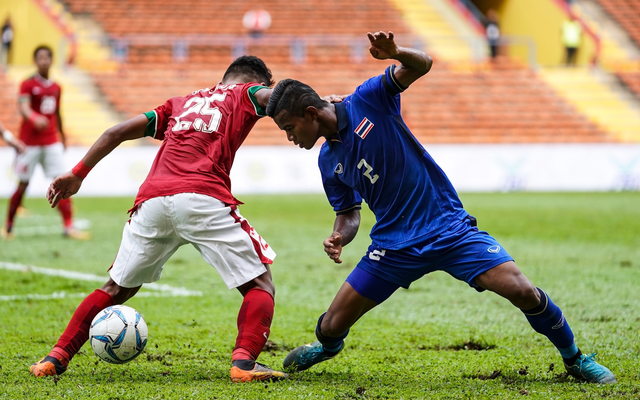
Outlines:
<svg viewBox="0 0 640 400"><path fill-rule="evenodd" d="M68 199L78 193L82 180L91 168L95 167L100 160L122 142L143 137L147 122L147 117L141 114L107 129L72 171L60 175L51 182L49 190L47 190L47 200L49 200L51 207L58 205L60 200Z"/></svg>

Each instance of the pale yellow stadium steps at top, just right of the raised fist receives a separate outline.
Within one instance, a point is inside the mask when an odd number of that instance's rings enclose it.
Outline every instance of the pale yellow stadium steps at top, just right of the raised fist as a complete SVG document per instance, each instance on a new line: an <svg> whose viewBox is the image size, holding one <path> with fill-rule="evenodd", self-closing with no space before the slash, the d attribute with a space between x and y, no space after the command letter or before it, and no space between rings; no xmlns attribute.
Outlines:
<svg viewBox="0 0 640 400"><path fill-rule="evenodd" d="M428 44L428 52L443 61L471 62L478 34L443 0L389 0L407 25ZM460 32L464 32L461 34Z"/></svg>

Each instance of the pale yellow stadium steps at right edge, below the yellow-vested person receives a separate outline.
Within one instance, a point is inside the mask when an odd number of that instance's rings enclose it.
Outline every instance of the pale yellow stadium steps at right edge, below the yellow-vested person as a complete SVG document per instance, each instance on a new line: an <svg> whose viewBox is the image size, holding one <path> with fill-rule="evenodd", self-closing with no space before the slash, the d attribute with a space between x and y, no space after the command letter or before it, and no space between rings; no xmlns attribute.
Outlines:
<svg viewBox="0 0 640 400"><path fill-rule="evenodd" d="M616 78L589 68L543 68L539 77L621 142L640 142L640 104Z"/></svg>

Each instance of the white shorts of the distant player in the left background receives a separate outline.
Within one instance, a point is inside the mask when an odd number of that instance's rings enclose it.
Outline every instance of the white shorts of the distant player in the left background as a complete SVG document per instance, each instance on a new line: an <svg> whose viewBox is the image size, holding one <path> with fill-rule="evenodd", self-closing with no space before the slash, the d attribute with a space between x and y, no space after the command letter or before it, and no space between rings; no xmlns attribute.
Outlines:
<svg viewBox="0 0 640 400"><path fill-rule="evenodd" d="M15 171L20 182L27 182L33 176L36 165L42 165L47 178L53 179L66 171L64 166L64 146L54 143L48 146L27 146L16 157Z"/></svg>

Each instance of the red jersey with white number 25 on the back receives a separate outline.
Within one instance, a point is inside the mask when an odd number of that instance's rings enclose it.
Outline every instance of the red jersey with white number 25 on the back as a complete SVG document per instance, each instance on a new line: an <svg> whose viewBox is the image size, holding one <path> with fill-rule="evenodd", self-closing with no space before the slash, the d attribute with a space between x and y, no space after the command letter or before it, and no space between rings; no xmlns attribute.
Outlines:
<svg viewBox="0 0 640 400"><path fill-rule="evenodd" d="M149 119L145 135L163 142L135 206L178 193L242 204L231 194L229 172L236 151L266 115L255 98L255 92L263 88L257 83L218 84L214 89L173 97L145 113Z"/></svg>

